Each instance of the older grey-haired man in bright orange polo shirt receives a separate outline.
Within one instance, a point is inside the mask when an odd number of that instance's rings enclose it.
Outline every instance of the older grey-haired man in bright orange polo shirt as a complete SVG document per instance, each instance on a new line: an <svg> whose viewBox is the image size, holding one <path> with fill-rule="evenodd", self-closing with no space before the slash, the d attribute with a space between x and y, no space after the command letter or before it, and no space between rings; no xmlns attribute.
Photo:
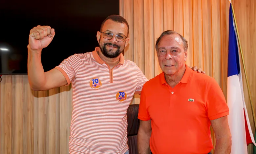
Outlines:
<svg viewBox="0 0 256 154"><path fill-rule="evenodd" d="M229 108L223 92L212 77L185 64L187 48L187 41L171 30L156 42L163 72L141 91L139 154L210 153L210 125L216 137L214 154L230 153Z"/></svg>

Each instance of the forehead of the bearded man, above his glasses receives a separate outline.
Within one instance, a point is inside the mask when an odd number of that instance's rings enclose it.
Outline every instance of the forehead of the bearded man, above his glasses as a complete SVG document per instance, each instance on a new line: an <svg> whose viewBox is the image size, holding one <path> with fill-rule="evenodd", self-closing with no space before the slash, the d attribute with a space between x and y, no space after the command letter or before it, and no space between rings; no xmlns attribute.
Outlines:
<svg viewBox="0 0 256 154"><path fill-rule="evenodd" d="M109 19L104 23L102 27L102 32L104 31L109 31L113 34L122 34L126 36L128 33L128 27L125 23L119 23Z"/></svg>

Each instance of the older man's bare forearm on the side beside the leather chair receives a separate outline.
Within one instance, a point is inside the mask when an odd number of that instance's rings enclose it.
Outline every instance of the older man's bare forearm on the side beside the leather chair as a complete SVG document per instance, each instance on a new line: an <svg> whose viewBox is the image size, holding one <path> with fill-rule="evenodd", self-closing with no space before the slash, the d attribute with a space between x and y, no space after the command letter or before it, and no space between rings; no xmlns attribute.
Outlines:
<svg viewBox="0 0 256 154"><path fill-rule="evenodd" d="M138 152L139 154L150 154L149 139L151 132L145 133L141 130L138 132Z"/></svg>

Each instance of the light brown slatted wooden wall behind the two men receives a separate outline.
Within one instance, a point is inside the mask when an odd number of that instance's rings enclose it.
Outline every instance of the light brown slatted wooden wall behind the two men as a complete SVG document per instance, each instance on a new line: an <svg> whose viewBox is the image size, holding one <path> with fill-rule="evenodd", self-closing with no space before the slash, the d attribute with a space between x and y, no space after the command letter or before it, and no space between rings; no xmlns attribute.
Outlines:
<svg viewBox="0 0 256 154"><path fill-rule="evenodd" d="M256 2L233 0L245 65L255 106ZM120 0L120 15L130 26L124 57L134 61L151 79L161 72L155 50L164 30L176 30L188 41L186 64L214 77L226 97L228 54L228 0ZM245 102L254 123L244 70ZM72 87L33 91L27 75L3 75L0 83L0 153L68 154L72 114ZM135 95L131 104L139 104ZM211 129L212 131L212 129ZM212 131L212 141L216 140ZM252 144L247 146L252 153ZM214 149L212 150L214 152Z"/></svg>

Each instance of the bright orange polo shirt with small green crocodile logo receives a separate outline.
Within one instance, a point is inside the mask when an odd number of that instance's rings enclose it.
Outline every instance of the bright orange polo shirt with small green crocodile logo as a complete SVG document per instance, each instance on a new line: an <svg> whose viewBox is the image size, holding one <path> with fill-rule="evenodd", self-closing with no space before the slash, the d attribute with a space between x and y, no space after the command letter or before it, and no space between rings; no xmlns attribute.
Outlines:
<svg viewBox="0 0 256 154"><path fill-rule="evenodd" d="M174 88L167 84L164 73L144 84L138 118L151 120L153 154L207 154L213 148L210 120L228 114L218 83L186 65Z"/></svg>

